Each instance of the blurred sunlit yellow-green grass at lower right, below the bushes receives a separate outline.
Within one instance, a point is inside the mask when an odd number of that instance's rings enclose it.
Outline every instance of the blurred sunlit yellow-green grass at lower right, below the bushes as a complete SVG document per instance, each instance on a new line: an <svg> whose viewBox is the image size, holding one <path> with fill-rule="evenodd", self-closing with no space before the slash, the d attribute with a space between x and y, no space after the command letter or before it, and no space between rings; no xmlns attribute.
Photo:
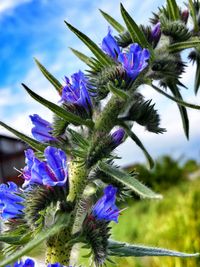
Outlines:
<svg viewBox="0 0 200 267"><path fill-rule="evenodd" d="M182 182L162 201L137 201L113 225L116 240L183 252L200 251L200 179ZM116 258L126 267L197 267L199 258ZM108 266L112 266L109 265Z"/></svg>

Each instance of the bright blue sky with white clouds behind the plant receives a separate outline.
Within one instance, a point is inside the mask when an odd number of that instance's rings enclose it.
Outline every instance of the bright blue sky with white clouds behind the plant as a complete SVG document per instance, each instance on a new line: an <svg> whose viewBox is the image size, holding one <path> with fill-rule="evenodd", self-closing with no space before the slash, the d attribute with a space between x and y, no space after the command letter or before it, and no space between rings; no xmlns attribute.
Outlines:
<svg viewBox="0 0 200 267"><path fill-rule="evenodd" d="M0 2L0 117L1 120L30 134L31 123L28 115L38 113L51 120L51 113L41 105L34 103L21 87L25 82L31 89L58 101L58 96L51 85L39 72L33 57L41 61L61 82L64 75L70 76L79 69L85 69L68 49L74 47L90 55L87 48L65 26L64 20L89 35L97 44L107 33L107 23L98 8L111 13L121 22L119 3L134 16L138 23L146 23L151 11L164 1L145 0L1 0ZM189 90L183 90L187 101L200 103L193 94L194 68L190 65L183 76ZM142 88L147 98L153 98L160 111L162 126L168 132L156 136L136 126L135 132L141 137L153 157L170 153L175 157L185 155L199 159L199 123L198 111L189 111L191 119L190 142L186 141L179 113L175 104L166 101L150 87ZM6 133L0 129L0 133ZM128 140L119 148L123 157L122 164L144 161L142 152Z"/></svg>

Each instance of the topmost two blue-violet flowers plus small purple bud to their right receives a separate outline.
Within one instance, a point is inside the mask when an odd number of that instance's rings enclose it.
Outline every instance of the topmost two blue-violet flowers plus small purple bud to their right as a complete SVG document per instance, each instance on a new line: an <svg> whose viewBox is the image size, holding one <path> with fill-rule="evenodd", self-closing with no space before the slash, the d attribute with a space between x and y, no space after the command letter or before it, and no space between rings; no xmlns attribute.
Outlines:
<svg viewBox="0 0 200 267"><path fill-rule="evenodd" d="M157 28L153 36L157 34ZM122 64L128 77L133 80L148 66L150 58L148 49L142 49L139 44L134 43L130 45L128 52L121 51L110 29L107 36L103 38L101 47L107 55Z"/></svg>

